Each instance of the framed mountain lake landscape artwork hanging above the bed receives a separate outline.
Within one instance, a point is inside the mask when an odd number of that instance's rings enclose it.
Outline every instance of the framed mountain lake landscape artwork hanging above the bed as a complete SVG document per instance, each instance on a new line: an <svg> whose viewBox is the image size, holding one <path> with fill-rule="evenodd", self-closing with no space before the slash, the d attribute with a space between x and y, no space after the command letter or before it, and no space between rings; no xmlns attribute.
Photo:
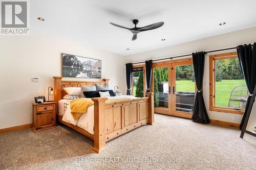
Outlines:
<svg viewBox="0 0 256 170"><path fill-rule="evenodd" d="M61 54L62 77L101 79L101 60Z"/></svg>

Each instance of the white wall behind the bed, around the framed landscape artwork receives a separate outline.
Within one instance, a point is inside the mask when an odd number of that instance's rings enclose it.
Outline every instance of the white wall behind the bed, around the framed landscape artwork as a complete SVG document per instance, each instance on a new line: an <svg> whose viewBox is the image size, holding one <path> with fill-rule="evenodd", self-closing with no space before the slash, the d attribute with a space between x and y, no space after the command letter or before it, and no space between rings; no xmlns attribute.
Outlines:
<svg viewBox="0 0 256 170"><path fill-rule="evenodd" d="M32 123L34 96L47 96L52 77L61 76L61 53L102 60L102 78L110 79L112 89L119 86L125 91L123 56L39 34L1 36L0 129ZM39 78L39 82L33 83L31 78Z"/></svg>

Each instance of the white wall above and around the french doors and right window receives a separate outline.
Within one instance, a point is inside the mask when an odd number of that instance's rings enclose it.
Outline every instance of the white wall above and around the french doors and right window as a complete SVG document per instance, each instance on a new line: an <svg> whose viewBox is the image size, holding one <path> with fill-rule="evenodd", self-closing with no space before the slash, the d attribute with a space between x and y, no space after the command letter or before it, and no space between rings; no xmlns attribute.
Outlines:
<svg viewBox="0 0 256 170"><path fill-rule="evenodd" d="M182 34L180 34L180 36L182 36ZM221 48L229 48L229 47L234 47L240 44L253 43L253 42L256 42L256 27L126 56L126 63L140 62L140 61L145 61L150 59L174 57L179 55L191 54L193 52L199 52L199 51L212 51L212 50L218 50ZM228 53L228 52L234 52L234 51L236 50L223 51L218 53L209 53L206 55L203 89L204 89L205 105L206 105L206 109L208 111L208 115L210 119L240 123L242 119L242 115L209 111L209 55ZM251 114L253 115L256 114L256 105L254 105L254 108ZM251 127L252 124L256 126L255 118L256 116L254 116L254 118L252 116L248 124L248 127L249 126Z"/></svg>

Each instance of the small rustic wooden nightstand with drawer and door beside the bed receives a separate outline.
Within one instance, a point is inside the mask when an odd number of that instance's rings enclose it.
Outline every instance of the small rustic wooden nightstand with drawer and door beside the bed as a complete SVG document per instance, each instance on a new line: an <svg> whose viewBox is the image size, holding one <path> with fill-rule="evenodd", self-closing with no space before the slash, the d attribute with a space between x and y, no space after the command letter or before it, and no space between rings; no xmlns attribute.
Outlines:
<svg viewBox="0 0 256 170"><path fill-rule="evenodd" d="M55 108L57 102L45 102L43 104L32 103L34 132L56 127Z"/></svg>

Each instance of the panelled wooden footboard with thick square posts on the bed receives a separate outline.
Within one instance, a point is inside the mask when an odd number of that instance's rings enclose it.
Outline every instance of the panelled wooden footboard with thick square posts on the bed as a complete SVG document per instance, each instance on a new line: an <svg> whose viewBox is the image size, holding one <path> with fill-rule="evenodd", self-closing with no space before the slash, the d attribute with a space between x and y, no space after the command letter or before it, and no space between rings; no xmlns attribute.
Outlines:
<svg viewBox="0 0 256 170"><path fill-rule="evenodd" d="M145 98L123 102L105 102L107 98L94 101L94 147L99 152L106 141L129 132L142 125L154 124L154 96L146 93Z"/></svg>

